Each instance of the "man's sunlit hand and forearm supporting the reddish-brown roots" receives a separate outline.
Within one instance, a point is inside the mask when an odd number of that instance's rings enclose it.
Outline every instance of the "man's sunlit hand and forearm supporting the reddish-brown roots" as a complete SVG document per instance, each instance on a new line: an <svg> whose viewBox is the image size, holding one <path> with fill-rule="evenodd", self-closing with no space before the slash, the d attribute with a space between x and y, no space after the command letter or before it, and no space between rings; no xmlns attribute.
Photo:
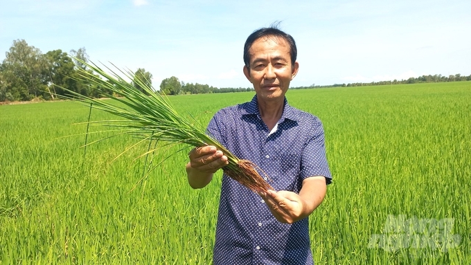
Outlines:
<svg viewBox="0 0 471 265"><path fill-rule="evenodd" d="M281 190L260 193L270 212L281 223L294 223L308 217L326 196L326 178L312 176L303 181L299 194Z"/></svg>

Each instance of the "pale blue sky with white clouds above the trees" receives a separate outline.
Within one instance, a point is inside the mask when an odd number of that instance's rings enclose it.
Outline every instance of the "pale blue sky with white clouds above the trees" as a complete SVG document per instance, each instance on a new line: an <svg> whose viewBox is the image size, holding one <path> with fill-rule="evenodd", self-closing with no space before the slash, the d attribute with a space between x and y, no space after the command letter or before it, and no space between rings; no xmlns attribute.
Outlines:
<svg viewBox="0 0 471 265"><path fill-rule="evenodd" d="M298 48L291 86L471 75L470 0L0 0L0 61L24 39L42 53L152 73L152 84L251 87L245 39L281 21Z"/></svg>

